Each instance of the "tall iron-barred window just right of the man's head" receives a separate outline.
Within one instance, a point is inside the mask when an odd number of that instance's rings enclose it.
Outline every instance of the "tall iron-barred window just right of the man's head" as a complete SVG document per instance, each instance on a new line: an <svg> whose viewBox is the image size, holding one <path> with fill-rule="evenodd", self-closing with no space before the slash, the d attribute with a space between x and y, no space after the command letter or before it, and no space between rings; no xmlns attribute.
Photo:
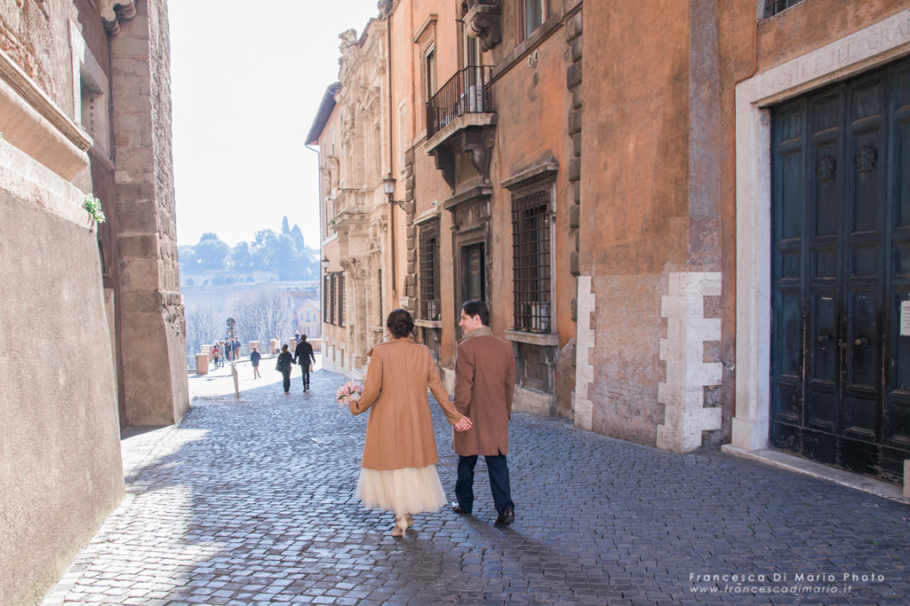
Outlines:
<svg viewBox="0 0 910 606"><path fill-rule="evenodd" d="M512 268L515 328L550 332L550 195L512 199Z"/></svg>

